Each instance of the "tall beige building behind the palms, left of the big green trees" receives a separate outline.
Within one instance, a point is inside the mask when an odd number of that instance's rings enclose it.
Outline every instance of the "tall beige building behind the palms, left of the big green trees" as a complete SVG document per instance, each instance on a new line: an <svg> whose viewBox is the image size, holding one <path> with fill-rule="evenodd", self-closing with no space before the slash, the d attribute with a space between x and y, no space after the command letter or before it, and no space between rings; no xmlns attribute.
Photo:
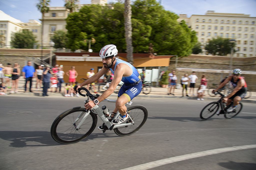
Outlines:
<svg viewBox="0 0 256 170"><path fill-rule="evenodd" d="M91 0L91 4L100 4L105 5L107 0ZM91 5L91 4L79 4L78 11L84 5ZM66 18L69 15L69 10L65 7L50 7L48 13L45 13L44 17L44 37L43 37L43 44L44 46L49 46L49 42L51 40L51 36L57 30L66 30ZM42 19L40 19L42 21Z"/></svg>

